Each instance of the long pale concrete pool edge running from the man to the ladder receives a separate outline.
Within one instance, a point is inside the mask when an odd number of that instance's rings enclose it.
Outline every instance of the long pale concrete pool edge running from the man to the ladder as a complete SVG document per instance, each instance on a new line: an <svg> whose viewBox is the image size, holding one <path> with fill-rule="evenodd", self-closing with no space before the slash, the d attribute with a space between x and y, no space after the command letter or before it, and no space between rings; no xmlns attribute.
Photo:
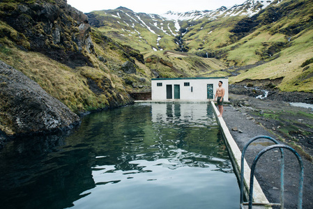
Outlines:
<svg viewBox="0 0 313 209"><path fill-rule="evenodd" d="M236 176L240 177L241 173L241 150L238 148L238 145L236 144L236 141L231 136L231 133L228 130L228 127L222 117L218 117L220 112L217 110L217 107L215 106L214 102L211 101L212 107L214 109L215 117L217 118L217 123L220 125L220 130L223 134L223 137L225 139L225 143L227 144L227 149L229 151L229 155L231 157L231 161L233 162L234 166L234 172L236 173ZM245 169L244 169L244 185L245 185L245 196L247 196L247 191L249 190L250 185L250 167L247 164L246 161L244 161ZM239 180L238 180L239 182ZM257 203L262 204L269 204L268 199L266 198L263 190L261 189L261 186L259 185L259 182L254 177L254 185L253 185L253 200ZM257 206L254 208L271 208L268 206Z"/></svg>

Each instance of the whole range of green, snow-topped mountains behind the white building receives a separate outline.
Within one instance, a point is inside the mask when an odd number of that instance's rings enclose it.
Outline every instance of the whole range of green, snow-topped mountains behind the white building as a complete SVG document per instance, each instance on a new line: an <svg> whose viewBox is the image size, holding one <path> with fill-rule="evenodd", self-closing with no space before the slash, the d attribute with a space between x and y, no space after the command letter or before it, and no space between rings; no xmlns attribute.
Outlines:
<svg viewBox="0 0 313 209"><path fill-rule="evenodd" d="M312 68L309 66L305 71L300 68L300 65L312 58L310 49L313 46L309 43L312 36L308 32L313 29L311 7L312 2L307 0L250 0L230 8L204 10L205 14L199 11L168 13L175 15L175 18L171 18L173 20L160 15L124 13L123 10L102 10L86 15L91 25L101 33L138 49L145 59L151 56L151 52L188 52L224 62L229 70L220 71L220 74L229 76L230 82L285 77L276 88L282 91L312 92L313 88L309 85L312 84ZM102 25L94 25L95 20ZM300 48L305 50L299 52ZM289 56L290 53L296 53L294 57L300 56L300 59L294 59ZM283 56L290 57L289 61ZM246 72L238 70L236 77L231 70L260 62L264 64L249 68ZM282 68L281 63L287 66L285 72L290 73L286 75L279 70ZM156 67L149 65L149 68ZM266 77L266 74L259 73L267 69L275 74L269 73L270 76ZM307 75L305 79L299 77L302 72Z"/></svg>

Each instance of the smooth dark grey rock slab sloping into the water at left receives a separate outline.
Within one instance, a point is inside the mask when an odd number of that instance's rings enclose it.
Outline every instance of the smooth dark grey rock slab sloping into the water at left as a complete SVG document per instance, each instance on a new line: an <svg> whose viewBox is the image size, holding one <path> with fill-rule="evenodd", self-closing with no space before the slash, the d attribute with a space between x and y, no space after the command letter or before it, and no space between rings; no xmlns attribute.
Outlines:
<svg viewBox="0 0 313 209"><path fill-rule="evenodd" d="M8 136L52 132L79 121L65 104L0 61L0 132Z"/></svg>

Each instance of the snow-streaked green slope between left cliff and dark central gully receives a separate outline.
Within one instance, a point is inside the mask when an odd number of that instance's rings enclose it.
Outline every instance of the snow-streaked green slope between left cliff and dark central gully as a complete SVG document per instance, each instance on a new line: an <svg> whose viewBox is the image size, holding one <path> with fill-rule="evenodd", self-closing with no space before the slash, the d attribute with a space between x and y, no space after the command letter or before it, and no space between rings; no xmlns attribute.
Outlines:
<svg viewBox="0 0 313 209"><path fill-rule="evenodd" d="M159 15L134 13L123 7L94 11L87 15L91 24L106 36L140 52L177 47L173 41L173 34L176 34L174 22L164 20Z"/></svg>

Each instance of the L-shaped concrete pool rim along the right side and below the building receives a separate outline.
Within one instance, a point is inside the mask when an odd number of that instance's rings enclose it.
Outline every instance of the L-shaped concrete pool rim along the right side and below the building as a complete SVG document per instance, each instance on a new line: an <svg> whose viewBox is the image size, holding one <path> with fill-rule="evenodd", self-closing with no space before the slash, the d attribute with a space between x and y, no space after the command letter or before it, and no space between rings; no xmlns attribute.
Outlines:
<svg viewBox="0 0 313 209"><path fill-rule="evenodd" d="M229 129L222 117L218 117L220 112L217 110L217 107L215 106L213 100L137 100L136 103L211 103L212 107L214 109L215 117L217 118L217 123L220 125L220 130L223 134L223 137L225 139L225 143L227 144L227 149L229 151L229 155L231 157L231 160L233 162L234 166L234 172L236 173L236 176L238 179L240 179L240 171L241 171L241 150L238 148L238 145L236 144L236 141L231 136L231 133L229 132ZM225 101L228 102L228 101ZM248 191L248 185L250 185L250 167L247 164L246 161L244 161L244 185L245 185L245 195L247 195ZM239 180L238 180L239 181ZM259 203L257 205L264 205L264 206L257 206L254 205L253 208L256 209L264 209L264 208L271 208L270 206L266 206L269 204L268 199L266 199L266 196L261 189L261 186L259 185L257 179L254 177L254 189L253 189L253 202ZM238 197L239 198L239 197ZM248 208L248 206L244 206L245 208Z"/></svg>

